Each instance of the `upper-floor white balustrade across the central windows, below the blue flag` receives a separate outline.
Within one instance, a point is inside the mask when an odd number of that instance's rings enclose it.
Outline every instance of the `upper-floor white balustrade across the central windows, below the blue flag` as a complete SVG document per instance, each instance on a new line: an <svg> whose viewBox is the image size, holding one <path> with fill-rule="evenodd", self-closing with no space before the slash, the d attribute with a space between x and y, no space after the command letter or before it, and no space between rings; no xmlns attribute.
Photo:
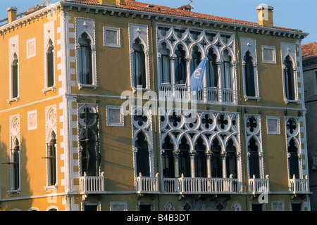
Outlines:
<svg viewBox="0 0 317 225"><path fill-rule="evenodd" d="M192 96L185 84L161 84L159 91L160 98L166 98L170 101L179 99L186 101L190 97L190 99L196 98L199 102L230 104L234 103L236 98L235 91L232 89L218 89L216 87L205 87L196 96Z"/></svg>

